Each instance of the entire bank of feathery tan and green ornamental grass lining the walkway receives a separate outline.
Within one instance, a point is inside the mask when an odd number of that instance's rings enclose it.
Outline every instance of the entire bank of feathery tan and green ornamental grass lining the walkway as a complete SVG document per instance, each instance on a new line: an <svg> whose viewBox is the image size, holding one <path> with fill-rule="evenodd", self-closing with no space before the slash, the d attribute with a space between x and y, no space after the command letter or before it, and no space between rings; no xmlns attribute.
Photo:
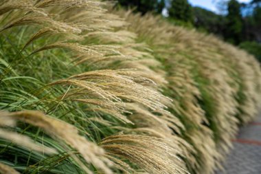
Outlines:
<svg viewBox="0 0 261 174"><path fill-rule="evenodd" d="M0 2L0 173L214 173L260 67L99 0Z"/></svg>

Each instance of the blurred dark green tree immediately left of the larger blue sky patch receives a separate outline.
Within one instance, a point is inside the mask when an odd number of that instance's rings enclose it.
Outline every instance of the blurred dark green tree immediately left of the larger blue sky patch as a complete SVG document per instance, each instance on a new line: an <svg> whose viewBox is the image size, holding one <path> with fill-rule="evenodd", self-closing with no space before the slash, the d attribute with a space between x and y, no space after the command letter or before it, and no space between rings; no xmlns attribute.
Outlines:
<svg viewBox="0 0 261 174"><path fill-rule="evenodd" d="M193 22L193 10L188 0L172 0L168 9L169 17L185 22Z"/></svg>

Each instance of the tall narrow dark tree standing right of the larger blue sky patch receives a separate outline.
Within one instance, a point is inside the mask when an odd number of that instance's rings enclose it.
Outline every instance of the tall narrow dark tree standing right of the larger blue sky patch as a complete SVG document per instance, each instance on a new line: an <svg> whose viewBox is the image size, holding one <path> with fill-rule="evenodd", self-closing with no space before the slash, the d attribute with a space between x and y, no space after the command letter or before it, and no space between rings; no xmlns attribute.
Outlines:
<svg viewBox="0 0 261 174"><path fill-rule="evenodd" d="M240 3L236 0L230 0L227 5L227 29L225 39L230 43L238 45L242 41L242 15L240 12Z"/></svg>

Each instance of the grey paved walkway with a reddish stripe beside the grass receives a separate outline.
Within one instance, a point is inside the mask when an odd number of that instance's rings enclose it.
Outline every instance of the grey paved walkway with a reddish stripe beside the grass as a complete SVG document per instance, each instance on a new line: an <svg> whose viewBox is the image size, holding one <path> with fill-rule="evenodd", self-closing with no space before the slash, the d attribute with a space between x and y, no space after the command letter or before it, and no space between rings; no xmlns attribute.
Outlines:
<svg viewBox="0 0 261 174"><path fill-rule="evenodd" d="M261 116L240 129L224 167L216 174L261 174Z"/></svg>

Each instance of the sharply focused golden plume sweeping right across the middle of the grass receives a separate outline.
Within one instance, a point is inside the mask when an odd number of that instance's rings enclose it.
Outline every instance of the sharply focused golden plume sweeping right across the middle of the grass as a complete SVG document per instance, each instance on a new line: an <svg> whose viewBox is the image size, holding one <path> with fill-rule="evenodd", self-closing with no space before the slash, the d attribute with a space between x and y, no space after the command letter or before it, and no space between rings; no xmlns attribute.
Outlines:
<svg viewBox="0 0 261 174"><path fill-rule="evenodd" d="M121 102L122 99L141 103L150 109L162 109L161 98L164 96L157 91L148 89L135 83L139 79L143 82L151 80L137 76L131 69L99 70L71 76L58 80L50 85L73 85L94 93L108 102ZM166 100L166 99L165 99ZM168 100L168 99L167 99Z"/></svg>

